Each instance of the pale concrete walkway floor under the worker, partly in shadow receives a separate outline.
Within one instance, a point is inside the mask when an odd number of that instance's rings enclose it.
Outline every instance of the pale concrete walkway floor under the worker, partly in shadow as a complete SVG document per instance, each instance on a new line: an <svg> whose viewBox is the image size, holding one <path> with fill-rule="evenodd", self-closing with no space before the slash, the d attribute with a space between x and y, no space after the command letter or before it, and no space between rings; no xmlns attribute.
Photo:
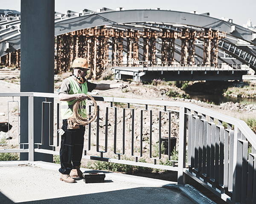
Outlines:
<svg viewBox="0 0 256 204"><path fill-rule="evenodd" d="M119 173L104 183L59 180L59 164L0 161L1 204L215 204L189 185ZM82 172L88 169L81 169Z"/></svg>

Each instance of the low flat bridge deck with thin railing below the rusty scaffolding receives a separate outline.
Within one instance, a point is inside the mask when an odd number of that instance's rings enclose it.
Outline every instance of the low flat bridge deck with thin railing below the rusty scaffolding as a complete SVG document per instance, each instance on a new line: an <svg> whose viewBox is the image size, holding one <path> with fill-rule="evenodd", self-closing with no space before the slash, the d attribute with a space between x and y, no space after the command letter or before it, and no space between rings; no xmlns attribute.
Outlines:
<svg viewBox="0 0 256 204"><path fill-rule="evenodd" d="M116 79L132 78L133 81L149 81L153 79L165 79L168 81L194 81L194 80L242 80L242 76L248 74L249 68L245 66L152 66L137 67L120 66L113 67Z"/></svg>

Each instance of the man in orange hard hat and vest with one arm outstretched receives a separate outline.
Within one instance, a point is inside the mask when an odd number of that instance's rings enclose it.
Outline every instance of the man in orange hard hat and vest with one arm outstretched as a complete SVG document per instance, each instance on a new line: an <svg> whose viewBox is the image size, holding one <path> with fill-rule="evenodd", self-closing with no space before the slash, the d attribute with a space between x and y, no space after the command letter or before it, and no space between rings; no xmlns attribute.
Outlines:
<svg viewBox="0 0 256 204"><path fill-rule="evenodd" d="M88 62L84 58L76 58L72 64L73 75L64 79L61 83L59 99L61 101L61 118L63 125L58 133L61 135L60 180L67 183L76 182L73 178L83 178L80 170L82 152L84 147L84 126L76 125L76 129L70 129L68 122L73 116L73 104L76 99L87 99L87 92L94 89L108 90L112 88L125 88L127 85L116 84L95 84L85 79L87 75ZM69 129L68 129L69 128ZM72 177L72 178L71 178Z"/></svg>

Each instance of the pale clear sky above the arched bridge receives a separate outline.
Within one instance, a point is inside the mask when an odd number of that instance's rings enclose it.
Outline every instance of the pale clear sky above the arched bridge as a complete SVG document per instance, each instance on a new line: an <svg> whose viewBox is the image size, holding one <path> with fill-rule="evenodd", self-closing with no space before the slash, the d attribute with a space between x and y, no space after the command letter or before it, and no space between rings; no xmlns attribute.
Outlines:
<svg viewBox="0 0 256 204"><path fill-rule="evenodd" d="M233 23L243 26L250 19L256 25L256 0L55 0L55 11L79 12L83 9L97 11L99 8L123 7L131 9L155 9L172 11L198 11L209 13L210 17L233 19ZM20 11L20 0L0 0L0 9Z"/></svg>

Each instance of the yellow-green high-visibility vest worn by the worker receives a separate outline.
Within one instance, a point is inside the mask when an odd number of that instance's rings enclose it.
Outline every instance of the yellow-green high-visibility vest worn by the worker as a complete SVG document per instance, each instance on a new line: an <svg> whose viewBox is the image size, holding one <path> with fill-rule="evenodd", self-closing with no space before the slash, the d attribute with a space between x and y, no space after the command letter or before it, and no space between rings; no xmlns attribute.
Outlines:
<svg viewBox="0 0 256 204"><path fill-rule="evenodd" d="M70 91L68 94L87 94L88 92L88 88L87 88L87 83L83 83L82 85L82 90L80 88L80 86L78 85L78 83L76 82L75 79L73 79L73 77L68 77L67 78L70 82ZM73 104L76 102L76 99L74 100L70 100L70 101L62 101L61 102L61 118L64 119L68 119L70 117L73 116ZM86 102L85 100L82 103L82 106L84 108L84 111L86 110ZM86 115L84 115L86 116Z"/></svg>

